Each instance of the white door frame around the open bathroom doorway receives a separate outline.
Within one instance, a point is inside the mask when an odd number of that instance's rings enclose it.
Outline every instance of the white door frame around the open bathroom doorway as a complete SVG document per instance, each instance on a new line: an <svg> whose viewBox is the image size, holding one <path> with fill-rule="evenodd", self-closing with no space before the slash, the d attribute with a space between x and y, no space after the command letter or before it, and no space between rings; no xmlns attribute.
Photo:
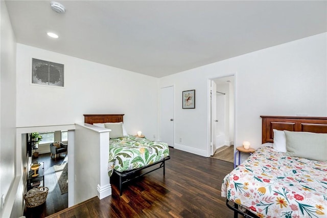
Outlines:
<svg viewBox="0 0 327 218"><path fill-rule="evenodd" d="M209 77L207 78L207 94L206 94L206 99L207 99L207 125L206 125L206 144L207 144L207 157L211 157L211 148L210 148L210 142L211 142L211 125L212 125L212 119L211 119L211 99L210 99L210 91L211 91L211 80L213 79L218 79L218 78L223 78L223 77L228 77L228 76L234 76L234 148L236 147L237 144L237 72L233 74L226 74L222 76L217 76L217 77Z"/></svg>

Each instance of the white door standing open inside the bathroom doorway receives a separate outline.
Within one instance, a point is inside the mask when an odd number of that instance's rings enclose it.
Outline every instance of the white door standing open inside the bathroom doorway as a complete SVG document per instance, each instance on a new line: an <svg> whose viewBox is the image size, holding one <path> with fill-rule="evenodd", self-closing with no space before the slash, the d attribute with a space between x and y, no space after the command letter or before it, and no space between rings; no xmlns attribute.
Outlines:
<svg viewBox="0 0 327 218"><path fill-rule="evenodd" d="M210 155L213 156L216 151L216 96L217 85L215 81L211 81L211 142L210 142Z"/></svg>

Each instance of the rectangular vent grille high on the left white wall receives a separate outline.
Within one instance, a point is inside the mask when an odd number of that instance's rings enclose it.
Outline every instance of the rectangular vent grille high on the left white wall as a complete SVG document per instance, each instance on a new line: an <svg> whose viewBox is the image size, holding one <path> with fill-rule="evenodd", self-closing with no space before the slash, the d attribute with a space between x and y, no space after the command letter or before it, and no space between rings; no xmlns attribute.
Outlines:
<svg viewBox="0 0 327 218"><path fill-rule="evenodd" d="M64 65L32 58L32 83L64 86Z"/></svg>

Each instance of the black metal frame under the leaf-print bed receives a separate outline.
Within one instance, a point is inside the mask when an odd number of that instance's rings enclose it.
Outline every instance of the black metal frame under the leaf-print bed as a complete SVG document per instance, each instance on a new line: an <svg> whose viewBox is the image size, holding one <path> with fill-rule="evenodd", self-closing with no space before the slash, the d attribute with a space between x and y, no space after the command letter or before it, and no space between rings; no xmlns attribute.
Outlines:
<svg viewBox="0 0 327 218"><path fill-rule="evenodd" d="M132 181L134 179L137 179L139 177L142 177L142 176L144 176L144 175L146 175L146 174L148 174L148 173L150 173L150 172L152 172L154 170L160 169L160 168L164 168L164 176L165 176L165 161L167 161L169 159L170 159L170 156L167 156L166 158L161 159L160 161L154 162L154 163L152 163L150 165L147 165L147 166L144 166L144 167L141 167L141 168L137 168L137 169L133 169L133 170L129 170L129 171L124 171L124 172L119 172L119 171L113 170L113 172L117 176L119 176L119 191L120 191L120 196L122 196L122 194L123 194L123 184L125 184L125 183L127 183L129 181ZM157 168L152 169L152 170L147 171L147 172L144 172L144 173L141 173L139 175L138 174L136 175L136 173L141 172L141 170L146 169L146 168L151 167L151 166L154 166L154 165L157 165L157 164L160 164ZM132 177L132 178L126 178L126 177L132 176L134 174L135 174L134 177Z"/></svg>

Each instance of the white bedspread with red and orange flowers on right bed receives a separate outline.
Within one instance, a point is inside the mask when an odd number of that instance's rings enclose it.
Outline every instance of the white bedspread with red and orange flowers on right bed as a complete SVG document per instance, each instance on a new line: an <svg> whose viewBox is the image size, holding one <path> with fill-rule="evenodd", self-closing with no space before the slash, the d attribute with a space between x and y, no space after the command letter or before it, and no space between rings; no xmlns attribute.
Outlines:
<svg viewBox="0 0 327 218"><path fill-rule="evenodd" d="M327 162L263 146L224 178L221 195L259 217L327 217Z"/></svg>

